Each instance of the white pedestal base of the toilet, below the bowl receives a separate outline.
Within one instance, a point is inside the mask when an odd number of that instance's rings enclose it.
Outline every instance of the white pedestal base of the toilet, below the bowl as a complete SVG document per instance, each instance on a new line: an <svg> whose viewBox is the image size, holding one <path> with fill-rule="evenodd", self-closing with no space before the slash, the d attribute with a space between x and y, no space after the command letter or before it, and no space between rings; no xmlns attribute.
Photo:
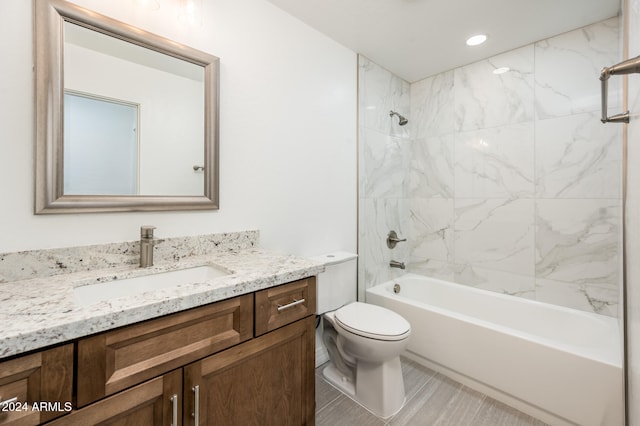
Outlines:
<svg viewBox="0 0 640 426"><path fill-rule="evenodd" d="M345 376L329 362L322 375L333 387L383 419L393 416L404 406L400 357L382 364L359 362L355 378Z"/></svg>

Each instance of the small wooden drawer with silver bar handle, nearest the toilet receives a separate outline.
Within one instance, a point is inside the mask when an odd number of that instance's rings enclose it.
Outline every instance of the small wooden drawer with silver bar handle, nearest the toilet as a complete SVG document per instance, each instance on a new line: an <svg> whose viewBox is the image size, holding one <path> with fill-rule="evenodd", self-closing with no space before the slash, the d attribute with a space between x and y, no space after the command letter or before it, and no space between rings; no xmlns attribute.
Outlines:
<svg viewBox="0 0 640 426"><path fill-rule="evenodd" d="M316 277L256 292L256 336L316 312Z"/></svg>

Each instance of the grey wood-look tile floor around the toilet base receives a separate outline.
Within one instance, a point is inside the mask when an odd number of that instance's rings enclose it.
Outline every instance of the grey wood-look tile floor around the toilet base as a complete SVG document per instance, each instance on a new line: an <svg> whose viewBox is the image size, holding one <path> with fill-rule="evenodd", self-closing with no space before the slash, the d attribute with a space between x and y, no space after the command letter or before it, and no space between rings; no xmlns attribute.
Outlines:
<svg viewBox="0 0 640 426"><path fill-rule="evenodd" d="M407 358L402 373L407 402L383 420L329 385L316 369L317 426L450 425L545 426L546 424Z"/></svg>

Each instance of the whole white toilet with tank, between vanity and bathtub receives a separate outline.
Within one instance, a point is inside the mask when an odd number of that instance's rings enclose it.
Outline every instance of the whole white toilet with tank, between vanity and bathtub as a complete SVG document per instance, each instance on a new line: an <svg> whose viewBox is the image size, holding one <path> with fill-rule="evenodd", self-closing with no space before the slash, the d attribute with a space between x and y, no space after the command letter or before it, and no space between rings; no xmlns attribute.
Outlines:
<svg viewBox="0 0 640 426"><path fill-rule="evenodd" d="M375 415L388 418L405 401L400 353L411 326L389 309L355 301L356 255L337 252L315 259L326 265L316 284L330 359L323 375Z"/></svg>

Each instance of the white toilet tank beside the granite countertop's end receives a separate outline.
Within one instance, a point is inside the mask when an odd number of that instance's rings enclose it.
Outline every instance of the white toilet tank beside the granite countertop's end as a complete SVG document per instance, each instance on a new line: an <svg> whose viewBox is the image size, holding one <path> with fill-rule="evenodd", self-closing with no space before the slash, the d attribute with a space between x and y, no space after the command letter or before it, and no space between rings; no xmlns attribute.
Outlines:
<svg viewBox="0 0 640 426"><path fill-rule="evenodd" d="M316 313L318 315L355 302L358 293L358 255L334 252L312 257L325 264L316 282Z"/></svg>

